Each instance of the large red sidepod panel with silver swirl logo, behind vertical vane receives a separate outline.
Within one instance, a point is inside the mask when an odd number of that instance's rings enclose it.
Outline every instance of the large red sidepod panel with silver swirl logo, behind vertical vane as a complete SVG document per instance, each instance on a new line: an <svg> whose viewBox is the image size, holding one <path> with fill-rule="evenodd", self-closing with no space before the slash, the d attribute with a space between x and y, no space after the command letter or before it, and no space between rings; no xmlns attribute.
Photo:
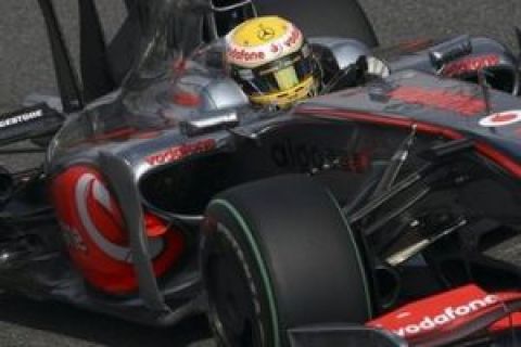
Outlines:
<svg viewBox="0 0 521 347"><path fill-rule="evenodd" d="M123 209L102 175L90 166L72 166L53 178L50 191L71 259L85 280L105 293L137 291ZM148 254L160 277L183 253L183 235L169 224L164 233L162 220L147 210L143 217Z"/></svg>

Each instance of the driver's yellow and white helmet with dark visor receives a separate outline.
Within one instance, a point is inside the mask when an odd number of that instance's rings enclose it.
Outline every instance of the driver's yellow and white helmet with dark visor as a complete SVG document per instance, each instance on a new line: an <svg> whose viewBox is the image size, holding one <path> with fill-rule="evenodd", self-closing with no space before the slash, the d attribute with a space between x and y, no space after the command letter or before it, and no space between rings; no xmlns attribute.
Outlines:
<svg viewBox="0 0 521 347"><path fill-rule="evenodd" d="M309 46L283 18L256 17L236 27L226 36L226 61L255 104L287 107L315 93Z"/></svg>

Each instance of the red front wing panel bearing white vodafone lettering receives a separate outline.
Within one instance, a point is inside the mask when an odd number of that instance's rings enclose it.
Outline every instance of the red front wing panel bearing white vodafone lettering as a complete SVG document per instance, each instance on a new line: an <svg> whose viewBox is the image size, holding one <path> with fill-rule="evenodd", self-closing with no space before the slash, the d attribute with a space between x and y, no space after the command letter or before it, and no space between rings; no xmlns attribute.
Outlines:
<svg viewBox="0 0 521 347"><path fill-rule="evenodd" d="M505 305L518 303L521 303L520 292L486 293L475 284L468 284L406 304L366 325L386 330L415 346L448 346L447 338L460 334L521 326L521 316L510 316L505 310Z"/></svg>

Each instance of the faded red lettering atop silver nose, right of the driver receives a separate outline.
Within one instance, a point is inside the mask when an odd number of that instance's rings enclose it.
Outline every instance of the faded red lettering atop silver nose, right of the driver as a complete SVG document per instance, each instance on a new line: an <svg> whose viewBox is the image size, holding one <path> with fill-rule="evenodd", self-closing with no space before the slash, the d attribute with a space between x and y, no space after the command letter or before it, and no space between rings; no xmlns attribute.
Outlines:
<svg viewBox="0 0 521 347"><path fill-rule="evenodd" d="M483 114L486 110L486 104L482 99L449 90L398 87L391 91L389 97L404 103L456 112L468 117Z"/></svg>

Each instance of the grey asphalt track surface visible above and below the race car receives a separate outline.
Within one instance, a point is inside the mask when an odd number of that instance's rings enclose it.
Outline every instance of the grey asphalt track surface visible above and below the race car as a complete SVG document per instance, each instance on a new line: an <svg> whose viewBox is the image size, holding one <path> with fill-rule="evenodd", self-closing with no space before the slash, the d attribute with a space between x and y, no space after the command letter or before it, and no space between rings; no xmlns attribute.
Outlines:
<svg viewBox="0 0 521 347"><path fill-rule="evenodd" d="M67 37L74 34L75 8L56 0ZM519 0L360 0L382 44L417 37L443 37L457 33L487 35L516 47L513 26L521 26ZM115 0L99 1L105 22L114 28L122 21ZM14 108L29 92L54 90L50 56L35 0L0 1L0 112ZM318 14L317 14L318 15ZM517 49L517 48L516 48ZM14 165L20 162L2 158ZM29 159L30 160L30 159ZM0 231L1 232L1 231ZM207 336L203 318L169 330L138 326L109 317L53 303L34 303L0 295L0 347L24 346L198 346Z"/></svg>

